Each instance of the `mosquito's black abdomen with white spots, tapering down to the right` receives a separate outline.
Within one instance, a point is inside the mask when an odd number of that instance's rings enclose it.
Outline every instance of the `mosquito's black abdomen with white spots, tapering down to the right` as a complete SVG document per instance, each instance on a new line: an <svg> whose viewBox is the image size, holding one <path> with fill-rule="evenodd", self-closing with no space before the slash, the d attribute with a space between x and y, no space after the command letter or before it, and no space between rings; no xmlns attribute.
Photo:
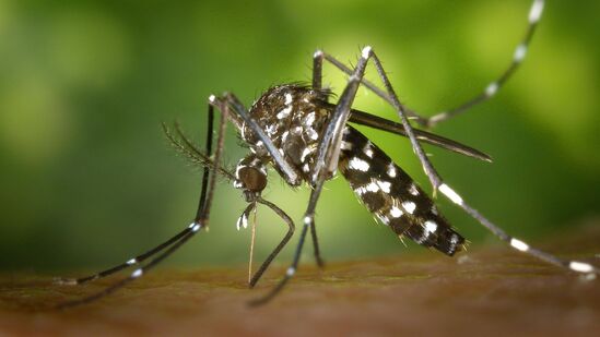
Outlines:
<svg viewBox="0 0 600 337"><path fill-rule="evenodd" d="M433 201L379 147L346 125L339 169L358 200L399 237L454 255L464 243Z"/></svg>

